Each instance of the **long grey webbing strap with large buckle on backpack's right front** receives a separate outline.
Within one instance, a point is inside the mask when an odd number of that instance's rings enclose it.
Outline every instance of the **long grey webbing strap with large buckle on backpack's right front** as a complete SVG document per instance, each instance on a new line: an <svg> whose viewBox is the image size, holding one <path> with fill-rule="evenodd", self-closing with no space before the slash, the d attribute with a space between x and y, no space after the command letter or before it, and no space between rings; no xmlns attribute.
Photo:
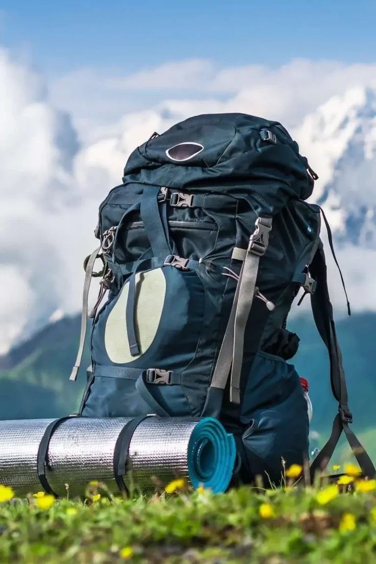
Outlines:
<svg viewBox="0 0 376 564"><path fill-rule="evenodd" d="M240 377L244 352L244 333L253 303L260 257L266 253L272 218L258 217L256 230L250 237L249 247L241 267L235 297L218 360L215 365L211 387L224 389L231 368L230 401L240 403ZM238 256L235 256L238 260Z"/></svg>

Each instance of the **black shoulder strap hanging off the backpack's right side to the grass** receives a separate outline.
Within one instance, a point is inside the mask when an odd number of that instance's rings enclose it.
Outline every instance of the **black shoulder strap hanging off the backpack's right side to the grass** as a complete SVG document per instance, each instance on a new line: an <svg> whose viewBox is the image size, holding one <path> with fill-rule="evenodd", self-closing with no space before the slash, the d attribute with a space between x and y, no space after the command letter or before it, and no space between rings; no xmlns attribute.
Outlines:
<svg viewBox="0 0 376 564"><path fill-rule="evenodd" d="M334 418L333 429L331 430L328 442L311 464L311 479L313 480L316 472L322 472L328 465L342 431L346 434L348 443L352 448L364 476L374 477L376 470L373 462L349 426L352 423L352 413L348 407L348 394L342 365L342 354L335 332L333 307L329 298L326 270L324 248L320 240L319 247L309 267L309 271L317 283L315 293L311 294L311 304L317 330L329 352L330 384L334 398L338 401L338 414Z"/></svg>

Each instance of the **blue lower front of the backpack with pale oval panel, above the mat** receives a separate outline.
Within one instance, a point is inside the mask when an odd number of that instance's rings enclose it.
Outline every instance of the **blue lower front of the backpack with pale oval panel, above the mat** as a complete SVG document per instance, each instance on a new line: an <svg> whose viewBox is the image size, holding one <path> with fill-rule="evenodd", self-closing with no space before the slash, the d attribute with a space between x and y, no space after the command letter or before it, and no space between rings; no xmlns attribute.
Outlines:
<svg viewBox="0 0 376 564"><path fill-rule="evenodd" d="M134 374L137 376L139 371L143 373L143 387L162 407L160 415L189 416L191 406L182 386L183 373L193 361L200 342L205 315L204 286L195 270L173 266L153 268L133 276L133 329L127 315L131 299L129 278L117 297L105 306L92 331L94 380L83 415L89 408L91 416L97 410L101 417L104 412L105 416L117 417L154 412L155 403L145 402L136 389ZM130 339L133 331L136 354ZM171 372L173 383L156 385L158 379L156 384L148 381L145 373L152 370Z"/></svg>

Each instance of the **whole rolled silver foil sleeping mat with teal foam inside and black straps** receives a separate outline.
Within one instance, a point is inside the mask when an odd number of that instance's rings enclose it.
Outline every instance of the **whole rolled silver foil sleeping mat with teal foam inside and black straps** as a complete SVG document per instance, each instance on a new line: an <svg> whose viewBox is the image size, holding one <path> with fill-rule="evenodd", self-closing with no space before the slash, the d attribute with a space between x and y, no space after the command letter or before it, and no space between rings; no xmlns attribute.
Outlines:
<svg viewBox="0 0 376 564"><path fill-rule="evenodd" d="M0 483L18 497L82 496L94 480L113 494L130 484L148 493L176 478L219 493L236 460L233 435L211 417L0 421L0 445Z"/></svg>

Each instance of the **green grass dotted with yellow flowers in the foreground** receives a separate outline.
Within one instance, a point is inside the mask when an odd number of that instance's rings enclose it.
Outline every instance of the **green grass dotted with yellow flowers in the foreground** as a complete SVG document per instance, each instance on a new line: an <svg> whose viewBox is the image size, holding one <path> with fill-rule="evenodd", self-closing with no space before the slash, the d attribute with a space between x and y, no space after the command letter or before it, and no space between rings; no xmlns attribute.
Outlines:
<svg viewBox="0 0 376 564"><path fill-rule="evenodd" d="M36 503L0 504L0 562L376 562L374 492L343 493L325 505L313 488L250 487L134 501L102 495L94 503L55 501L47 510ZM265 503L273 517L260 516ZM353 530L340 527L346 513Z"/></svg>

